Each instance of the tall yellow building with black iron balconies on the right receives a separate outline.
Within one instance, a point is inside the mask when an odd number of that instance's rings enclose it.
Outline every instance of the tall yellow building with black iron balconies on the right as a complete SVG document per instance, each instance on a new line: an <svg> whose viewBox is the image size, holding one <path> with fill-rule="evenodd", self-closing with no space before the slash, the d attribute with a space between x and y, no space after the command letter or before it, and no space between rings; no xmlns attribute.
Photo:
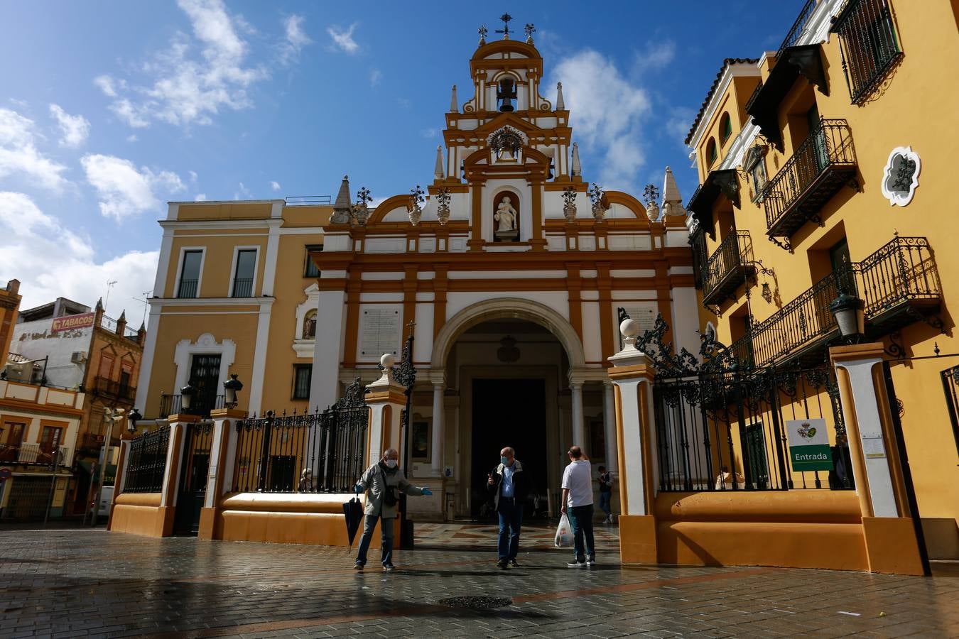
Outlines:
<svg viewBox="0 0 959 639"><path fill-rule="evenodd" d="M701 182L688 204L701 330L743 371L830 370L827 349L842 341L830 303L861 300L931 559L959 558L959 255L947 244L959 88L944 81L959 72L957 11L810 0L777 51L724 61L686 140ZM849 406L834 379L806 376L792 391L775 412L825 419L842 459ZM782 464L766 409L743 421L765 438L731 438L732 472L753 475L742 483L774 484Z"/></svg>

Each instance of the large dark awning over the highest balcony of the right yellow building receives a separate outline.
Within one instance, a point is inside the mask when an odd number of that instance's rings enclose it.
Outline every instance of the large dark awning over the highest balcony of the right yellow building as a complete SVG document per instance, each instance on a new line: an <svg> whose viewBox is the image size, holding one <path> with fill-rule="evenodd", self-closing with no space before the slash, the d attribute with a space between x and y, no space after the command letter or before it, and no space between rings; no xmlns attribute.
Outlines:
<svg viewBox="0 0 959 639"><path fill-rule="evenodd" d="M779 105L800 76L819 87L824 96L830 95L818 44L786 47L769 77L756 87L746 103L746 113L753 116L753 123L760 127L760 133L780 150L783 150L783 136L779 128Z"/></svg>

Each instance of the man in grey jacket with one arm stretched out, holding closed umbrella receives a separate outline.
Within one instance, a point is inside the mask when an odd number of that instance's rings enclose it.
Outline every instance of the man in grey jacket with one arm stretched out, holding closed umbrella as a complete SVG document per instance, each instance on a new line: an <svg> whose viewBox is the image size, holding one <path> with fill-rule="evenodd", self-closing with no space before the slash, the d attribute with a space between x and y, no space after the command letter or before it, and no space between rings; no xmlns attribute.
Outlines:
<svg viewBox="0 0 959 639"><path fill-rule="evenodd" d="M397 466L400 454L396 448L387 448L383 458L373 466L366 468L363 476L354 487L356 492L366 492L366 507L363 511L363 536L354 569L363 570L366 565L366 551L373 538L373 529L377 520L380 523L381 561L387 572L393 570L393 522L396 520L396 506L400 501L400 492L407 495L432 495L430 489L417 488L409 483L403 470Z"/></svg>

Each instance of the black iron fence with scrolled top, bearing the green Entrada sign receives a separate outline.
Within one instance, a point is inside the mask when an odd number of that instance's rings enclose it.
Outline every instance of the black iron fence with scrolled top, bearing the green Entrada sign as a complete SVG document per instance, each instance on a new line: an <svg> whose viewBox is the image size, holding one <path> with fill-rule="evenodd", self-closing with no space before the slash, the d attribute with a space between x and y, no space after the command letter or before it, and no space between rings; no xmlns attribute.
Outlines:
<svg viewBox="0 0 959 639"><path fill-rule="evenodd" d="M660 491L787 491L854 488L839 389L829 362L751 368L701 335L699 356L673 354L662 316L638 340L653 382ZM786 422L823 419L834 431L832 470L794 471Z"/></svg>

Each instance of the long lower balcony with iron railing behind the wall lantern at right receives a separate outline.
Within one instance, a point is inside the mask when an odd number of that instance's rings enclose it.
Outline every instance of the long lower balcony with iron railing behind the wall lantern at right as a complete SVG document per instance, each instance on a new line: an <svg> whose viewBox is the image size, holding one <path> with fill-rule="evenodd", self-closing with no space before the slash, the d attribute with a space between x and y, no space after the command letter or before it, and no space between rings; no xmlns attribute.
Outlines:
<svg viewBox="0 0 959 639"><path fill-rule="evenodd" d="M825 346L838 335L830 303L840 293L863 300L869 339L934 314L942 304L942 285L928 240L896 237L862 262L830 273L754 325L729 350L756 367L821 360Z"/></svg>

